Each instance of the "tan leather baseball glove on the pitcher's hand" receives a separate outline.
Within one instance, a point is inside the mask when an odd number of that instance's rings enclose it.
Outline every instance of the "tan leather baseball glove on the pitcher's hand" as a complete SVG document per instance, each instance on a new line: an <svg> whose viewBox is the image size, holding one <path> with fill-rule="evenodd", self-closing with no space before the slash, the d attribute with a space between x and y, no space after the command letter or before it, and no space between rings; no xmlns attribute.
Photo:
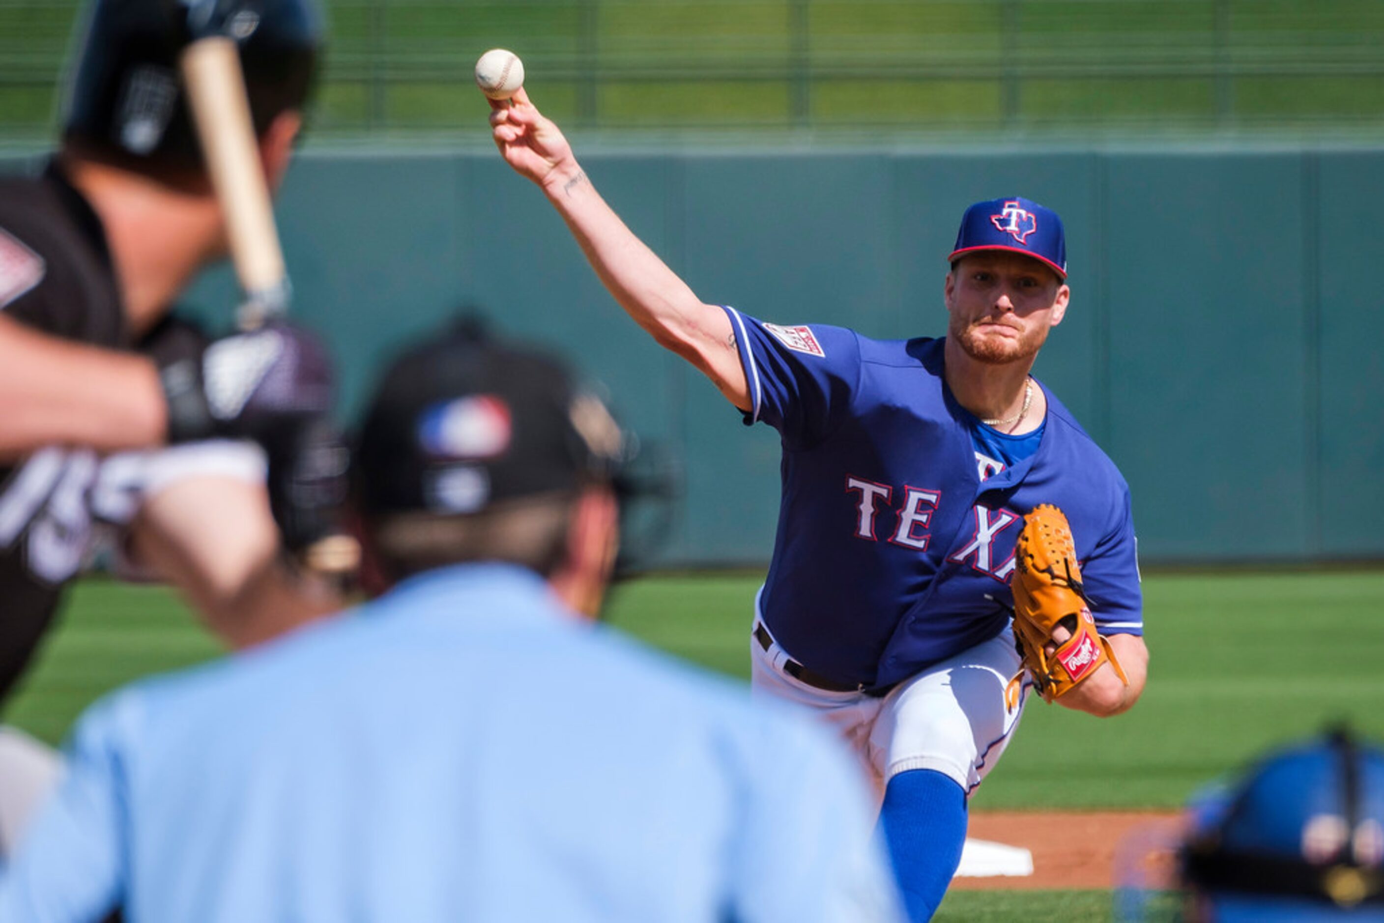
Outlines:
<svg viewBox="0 0 1384 923"><path fill-rule="evenodd" d="M1041 504L1024 516L1009 587L1014 594L1014 645L1044 702L1067 695L1106 661L1128 684L1110 642L1096 632L1071 526L1056 506ZM1059 625L1071 632L1062 643L1053 639ZM1006 697L1017 700L1023 673L1010 681Z"/></svg>

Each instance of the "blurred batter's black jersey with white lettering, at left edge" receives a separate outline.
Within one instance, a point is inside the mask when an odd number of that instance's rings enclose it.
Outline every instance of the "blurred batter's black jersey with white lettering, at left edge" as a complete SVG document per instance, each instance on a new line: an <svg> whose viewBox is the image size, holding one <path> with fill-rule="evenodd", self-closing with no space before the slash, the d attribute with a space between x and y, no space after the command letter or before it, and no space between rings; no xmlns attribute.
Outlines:
<svg viewBox="0 0 1384 923"><path fill-rule="evenodd" d="M105 231L55 166L0 179L0 313L62 339L125 346ZM87 548L95 454L48 447L0 462L0 700Z"/></svg>

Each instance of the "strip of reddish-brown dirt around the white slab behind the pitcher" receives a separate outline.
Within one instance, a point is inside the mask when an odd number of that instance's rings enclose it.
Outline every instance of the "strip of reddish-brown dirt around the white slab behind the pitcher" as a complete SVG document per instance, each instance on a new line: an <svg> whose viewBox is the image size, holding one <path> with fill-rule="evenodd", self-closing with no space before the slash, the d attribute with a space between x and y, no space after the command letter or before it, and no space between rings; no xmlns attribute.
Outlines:
<svg viewBox="0 0 1384 923"><path fill-rule="evenodd" d="M958 877L954 888L1109 888L1114 886L1116 847L1131 832L1175 830L1175 814L1151 811L1038 812L977 811L967 834L1021 846L1034 855L1034 873L1023 877Z"/></svg>

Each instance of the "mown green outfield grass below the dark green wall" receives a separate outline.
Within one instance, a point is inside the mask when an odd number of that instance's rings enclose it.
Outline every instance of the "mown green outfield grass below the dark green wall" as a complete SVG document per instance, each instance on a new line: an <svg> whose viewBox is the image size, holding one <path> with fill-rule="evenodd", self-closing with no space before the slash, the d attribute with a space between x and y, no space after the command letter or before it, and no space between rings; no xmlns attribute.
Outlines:
<svg viewBox="0 0 1384 923"><path fill-rule="evenodd" d="M609 619L743 678L758 580L634 581ZM1032 700L977 807L1172 808L1327 721L1384 736L1384 573L1158 574L1145 594L1153 668L1139 706L1102 721ZM6 718L54 742L104 691L216 650L166 591L89 580Z"/></svg>

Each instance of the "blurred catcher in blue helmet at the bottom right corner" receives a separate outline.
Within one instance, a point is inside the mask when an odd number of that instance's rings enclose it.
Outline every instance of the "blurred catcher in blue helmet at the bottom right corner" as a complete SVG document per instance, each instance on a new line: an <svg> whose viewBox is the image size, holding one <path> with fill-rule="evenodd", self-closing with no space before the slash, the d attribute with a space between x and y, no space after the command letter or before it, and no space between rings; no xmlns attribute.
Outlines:
<svg viewBox="0 0 1384 923"><path fill-rule="evenodd" d="M1337 729L1275 750L1193 798L1181 829L1139 840L1122 850L1118 919L1381 923L1384 749ZM1149 875L1160 851L1171 881Z"/></svg>

